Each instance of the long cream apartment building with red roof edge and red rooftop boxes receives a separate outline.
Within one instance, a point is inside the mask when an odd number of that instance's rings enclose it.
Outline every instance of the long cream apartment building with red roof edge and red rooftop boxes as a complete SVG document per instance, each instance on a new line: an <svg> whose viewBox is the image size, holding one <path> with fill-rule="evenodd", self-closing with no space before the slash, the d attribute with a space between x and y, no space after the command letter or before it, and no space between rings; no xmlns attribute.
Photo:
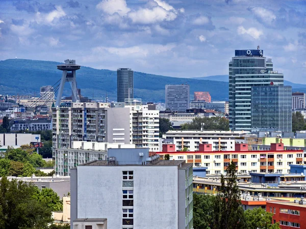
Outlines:
<svg viewBox="0 0 306 229"><path fill-rule="evenodd" d="M303 150L285 150L284 144L271 144L270 150L248 151L247 144L234 144L235 150L214 151L212 144L200 144L197 151L175 151L174 144L163 145L162 158L169 154L170 160L186 160L194 166L207 167L206 174L225 174L233 161L238 173L290 173L290 165L303 164Z"/></svg>

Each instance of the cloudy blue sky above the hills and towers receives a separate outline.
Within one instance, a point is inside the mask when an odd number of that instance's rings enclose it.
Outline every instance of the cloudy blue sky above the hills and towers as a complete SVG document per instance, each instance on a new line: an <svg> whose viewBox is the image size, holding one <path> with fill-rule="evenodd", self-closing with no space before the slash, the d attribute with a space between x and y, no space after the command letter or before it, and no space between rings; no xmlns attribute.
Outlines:
<svg viewBox="0 0 306 229"><path fill-rule="evenodd" d="M189 78L228 74L235 49L258 45L306 83L306 1L0 0L0 60Z"/></svg>

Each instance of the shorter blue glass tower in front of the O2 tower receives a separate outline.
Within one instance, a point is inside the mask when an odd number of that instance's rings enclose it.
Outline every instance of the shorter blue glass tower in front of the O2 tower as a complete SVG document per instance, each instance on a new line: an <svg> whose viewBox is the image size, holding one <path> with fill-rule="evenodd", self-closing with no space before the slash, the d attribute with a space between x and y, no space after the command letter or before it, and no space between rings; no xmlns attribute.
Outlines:
<svg viewBox="0 0 306 229"><path fill-rule="evenodd" d="M292 88L274 85L251 88L251 132L291 132Z"/></svg>

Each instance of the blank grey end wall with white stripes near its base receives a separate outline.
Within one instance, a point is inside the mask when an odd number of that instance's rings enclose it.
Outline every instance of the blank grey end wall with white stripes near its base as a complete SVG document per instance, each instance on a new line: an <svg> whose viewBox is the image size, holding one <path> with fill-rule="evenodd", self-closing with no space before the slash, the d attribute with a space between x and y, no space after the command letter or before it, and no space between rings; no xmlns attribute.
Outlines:
<svg viewBox="0 0 306 229"><path fill-rule="evenodd" d="M130 144L130 108L113 107L105 109L107 110L106 142L123 142L124 144ZM119 140L119 138L124 139Z"/></svg>

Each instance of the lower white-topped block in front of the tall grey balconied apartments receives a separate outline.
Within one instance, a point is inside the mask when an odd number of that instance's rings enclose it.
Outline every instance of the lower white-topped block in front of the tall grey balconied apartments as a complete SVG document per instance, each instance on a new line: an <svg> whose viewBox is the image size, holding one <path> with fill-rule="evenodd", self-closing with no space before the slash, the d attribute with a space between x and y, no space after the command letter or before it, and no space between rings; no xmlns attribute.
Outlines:
<svg viewBox="0 0 306 229"><path fill-rule="evenodd" d="M55 172L70 176L70 169L94 160L107 160L108 149L135 148L133 144L72 141L70 149L55 149Z"/></svg>

